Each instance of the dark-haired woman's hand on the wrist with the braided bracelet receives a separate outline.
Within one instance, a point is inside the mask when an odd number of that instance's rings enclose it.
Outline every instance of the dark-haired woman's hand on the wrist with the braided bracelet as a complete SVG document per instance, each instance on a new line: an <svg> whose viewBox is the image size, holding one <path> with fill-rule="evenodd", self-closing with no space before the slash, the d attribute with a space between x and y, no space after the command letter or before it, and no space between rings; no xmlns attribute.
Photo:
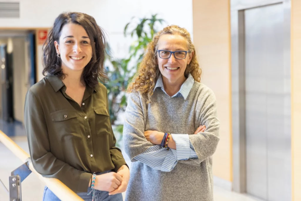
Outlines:
<svg viewBox="0 0 301 201"><path fill-rule="evenodd" d="M111 192L119 187L122 177L116 172L96 175L95 189Z"/></svg>

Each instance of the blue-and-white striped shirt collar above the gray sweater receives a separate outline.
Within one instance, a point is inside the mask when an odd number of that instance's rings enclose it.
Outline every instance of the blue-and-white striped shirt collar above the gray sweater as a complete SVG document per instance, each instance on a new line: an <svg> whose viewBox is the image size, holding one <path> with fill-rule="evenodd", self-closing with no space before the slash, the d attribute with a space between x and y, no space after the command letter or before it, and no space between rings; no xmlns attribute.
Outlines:
<svg viewBox="0 0 301 201"><path fill-rule="evenodd" d="M182 84L180 90L173 95L172 97L179 97L180 95L182 95L182 97L184 98L184 100L186 100L186 98L188 97L189 92L191 91L191 88L193 87L194 84L194 78L192 77L192 75L189 73L188 74L188 78L185 80L185 82ZM164 85L163 85L163 80L162 80L162 75L160 74L157 80L157 83L155 85L154 91L156 88L161 88L161 90L168 95L165 90L164 90Z"/></svg>

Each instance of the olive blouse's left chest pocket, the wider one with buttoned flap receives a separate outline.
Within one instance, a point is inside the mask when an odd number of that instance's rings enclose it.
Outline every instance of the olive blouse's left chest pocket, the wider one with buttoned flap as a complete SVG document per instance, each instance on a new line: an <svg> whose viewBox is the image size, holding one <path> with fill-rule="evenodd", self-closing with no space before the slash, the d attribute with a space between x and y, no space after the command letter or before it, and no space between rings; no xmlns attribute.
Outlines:
<svg viewBox="0 0 301 201"><path fill-rule="evenodd" d="M58 139L70 140L82 138L79 133L78 114L76 111L58 110L50 113L50 116Z"/></svg>

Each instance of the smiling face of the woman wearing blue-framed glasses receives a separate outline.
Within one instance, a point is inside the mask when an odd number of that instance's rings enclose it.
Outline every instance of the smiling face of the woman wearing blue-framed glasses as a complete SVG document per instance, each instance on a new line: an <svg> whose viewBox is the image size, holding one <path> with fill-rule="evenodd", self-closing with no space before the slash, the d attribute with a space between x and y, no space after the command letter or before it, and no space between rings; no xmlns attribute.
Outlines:
<svg viewBox="0 0 301 201"><path fill-rule="evenodd" d="M178 35L164 34L160 37L158 44L158 50L169 50L169 51L188 51L187 40ZM168 83L180 83L185 81L185 70L187 65L192 59L193 53L187 53L185 59L176 59L172 54L169 59L162 59L157 53L157 62L159 70L162 74L163 82L168 80Z"/></svg>

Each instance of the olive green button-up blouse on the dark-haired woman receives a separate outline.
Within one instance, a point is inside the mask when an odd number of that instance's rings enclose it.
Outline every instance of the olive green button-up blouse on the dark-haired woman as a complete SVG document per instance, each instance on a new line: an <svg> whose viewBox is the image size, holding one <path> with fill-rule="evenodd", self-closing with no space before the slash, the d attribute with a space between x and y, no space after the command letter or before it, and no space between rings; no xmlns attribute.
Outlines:
<svg viewBox="0 0 301 201"><path fill-rule="evenodd" d="M26 94L25 129L33 167L87 192L91 173L117 171L126 164L112 131L107 89L85 89L79 106L57 76L47 76Z"/></svg>

